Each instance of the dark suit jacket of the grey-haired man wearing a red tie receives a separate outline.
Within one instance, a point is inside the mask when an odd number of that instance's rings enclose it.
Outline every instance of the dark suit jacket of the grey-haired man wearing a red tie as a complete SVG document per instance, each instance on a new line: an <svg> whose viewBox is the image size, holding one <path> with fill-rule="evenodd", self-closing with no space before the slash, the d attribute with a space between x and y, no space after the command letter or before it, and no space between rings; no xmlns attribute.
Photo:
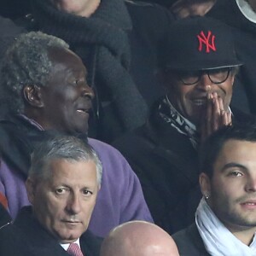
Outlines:
<svg viewBox="0 0 256 256"><path fill-rule="evenodd" d="M80 246L86 256L100 254L102 239L84 232L80 237ZM23 207L14 224L0 229L1 256L67 256L69 255L54 236L32 216L32 207Z"/></svg>

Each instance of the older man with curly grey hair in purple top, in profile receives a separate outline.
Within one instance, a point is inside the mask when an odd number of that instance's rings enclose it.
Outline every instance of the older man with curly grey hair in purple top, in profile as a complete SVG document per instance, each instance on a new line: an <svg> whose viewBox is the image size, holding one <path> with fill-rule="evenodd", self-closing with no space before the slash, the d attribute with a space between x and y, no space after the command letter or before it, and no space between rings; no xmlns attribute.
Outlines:
<svg viewBox="0 0 256 256"><path fill-rule="evenodd" d="M0 191L15 218L29 204L25 180L34 143L45 131L59 131L87 140L93 91L78 55L59 38L42 32L21 35L9 47L1 73ZM118 224L133 219L152 221L137 176L119 152L88 138L104 169L102 189L89 229L105 236Z"/></svg>

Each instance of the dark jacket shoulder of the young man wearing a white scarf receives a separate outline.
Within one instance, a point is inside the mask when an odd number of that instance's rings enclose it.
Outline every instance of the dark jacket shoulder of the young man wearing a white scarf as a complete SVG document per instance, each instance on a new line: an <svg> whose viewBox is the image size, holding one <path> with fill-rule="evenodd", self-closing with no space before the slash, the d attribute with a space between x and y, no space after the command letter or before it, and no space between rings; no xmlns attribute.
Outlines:
<svg viewBox="0 0 256 256"><path fill-rule="evenodd" d="M172 238L177 244L178 253L182 256L210 256L195 223L185 230L180 230Z"/></svg>

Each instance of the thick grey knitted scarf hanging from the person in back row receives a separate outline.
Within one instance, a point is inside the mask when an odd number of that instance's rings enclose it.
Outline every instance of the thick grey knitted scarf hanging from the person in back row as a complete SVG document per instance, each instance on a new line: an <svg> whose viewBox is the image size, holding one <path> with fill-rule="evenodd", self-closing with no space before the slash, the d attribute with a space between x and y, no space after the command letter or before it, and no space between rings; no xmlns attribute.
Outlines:
<svg viewBox="0 0 256 256"><path fill-rule="evenodd" d="M141 125L147 105L128 73L130 47L125 30L131 19L122 0L102 0L90 18L55 9L47 0L33 0L32 13L43 32L62 38L82 57L89 81L110 96L125 130ZM106 93L105 93L106 95Z"/></svg>

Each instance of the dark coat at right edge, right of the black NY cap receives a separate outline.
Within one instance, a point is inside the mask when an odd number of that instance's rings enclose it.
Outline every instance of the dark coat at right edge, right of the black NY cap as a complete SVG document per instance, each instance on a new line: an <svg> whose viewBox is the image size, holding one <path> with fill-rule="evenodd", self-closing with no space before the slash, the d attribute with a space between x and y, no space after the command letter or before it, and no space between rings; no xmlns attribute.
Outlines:
<svg viewBox="0 0 256 256"><path fill-rule="evenodd" d="M236 54L241 66L234 84L233 105L256 113L256 24L241 14L236 0L218 0L207 16L228 24L235 38Z"/></svg>

